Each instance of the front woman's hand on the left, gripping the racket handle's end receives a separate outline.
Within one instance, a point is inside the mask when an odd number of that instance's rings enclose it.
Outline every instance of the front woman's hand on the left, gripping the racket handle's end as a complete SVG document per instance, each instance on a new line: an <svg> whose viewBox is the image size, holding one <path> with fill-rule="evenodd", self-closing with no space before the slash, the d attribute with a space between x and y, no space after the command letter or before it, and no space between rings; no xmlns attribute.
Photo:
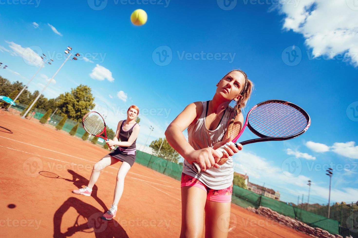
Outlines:
<svg viewBox="0 0 358 238"><path fill-rule="evenodd" d="M194 150L188 156L187 161L192 164L196 162L199 164L202 171L205 171L211 167L219 168L217 162L221 159L218 152L212 147L204 148L201 150Z"/></svg>

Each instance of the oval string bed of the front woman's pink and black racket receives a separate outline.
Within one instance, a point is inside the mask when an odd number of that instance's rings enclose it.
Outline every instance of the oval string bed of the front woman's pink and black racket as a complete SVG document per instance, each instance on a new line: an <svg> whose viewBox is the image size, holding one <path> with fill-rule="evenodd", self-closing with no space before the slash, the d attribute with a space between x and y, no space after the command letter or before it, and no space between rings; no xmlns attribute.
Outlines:
<svg viewBox="0 0 358 238"><path fill-rule="evenodd" d="M270 137L295 135L307 126L307 118L296 108L281 102L258 106L250 113L250 125Z"/></svg>

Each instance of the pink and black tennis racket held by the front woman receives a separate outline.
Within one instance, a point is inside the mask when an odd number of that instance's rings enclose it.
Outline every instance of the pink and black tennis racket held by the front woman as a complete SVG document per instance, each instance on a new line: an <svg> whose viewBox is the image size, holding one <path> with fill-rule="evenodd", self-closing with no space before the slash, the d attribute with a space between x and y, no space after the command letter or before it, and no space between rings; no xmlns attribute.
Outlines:
<svg viewBox="0 0 358 238"><path fill-rule="evenodd" d="M247 126L260 138L240 142L241 145L263 141L284 141L302 135L310 125L310 116L301 107L283 100L267 100L250 109L241 130L240 124L235 125L232 118L227 127L227 135L233 136L232 142L236 143ZM216 149L221 157L224 150L224 146ZM198 163L193 162L192 166L198 173L201 171Z"/></svg>

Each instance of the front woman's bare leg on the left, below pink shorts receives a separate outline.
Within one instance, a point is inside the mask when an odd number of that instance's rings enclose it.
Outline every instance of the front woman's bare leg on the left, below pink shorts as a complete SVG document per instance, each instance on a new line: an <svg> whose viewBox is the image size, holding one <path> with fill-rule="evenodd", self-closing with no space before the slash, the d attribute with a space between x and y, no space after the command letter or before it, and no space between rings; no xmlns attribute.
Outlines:
<svg viewBox="0 0 358 238"><path fill-rule="evenodd" d="M182 187L182 230L180 238L202 237L207 192L199 187Z"/></svg>

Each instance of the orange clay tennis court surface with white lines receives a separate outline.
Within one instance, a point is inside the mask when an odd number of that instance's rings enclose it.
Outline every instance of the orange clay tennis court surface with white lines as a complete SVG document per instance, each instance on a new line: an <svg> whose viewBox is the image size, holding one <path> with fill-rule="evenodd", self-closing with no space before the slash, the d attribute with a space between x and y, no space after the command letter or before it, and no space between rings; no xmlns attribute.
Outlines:
<svg viewBox="0 0 358 238"><path fill-rule="evenodd" d="M121 162L101 173L91 197L78 196L71 191L87 184L108 151L9 112L0 111L0 126L13 131L0 130L0 236L179 237L179 181L135 163L117 216L103 221ZM309 237L234 204L231 212L228 237Z"/></svg>

